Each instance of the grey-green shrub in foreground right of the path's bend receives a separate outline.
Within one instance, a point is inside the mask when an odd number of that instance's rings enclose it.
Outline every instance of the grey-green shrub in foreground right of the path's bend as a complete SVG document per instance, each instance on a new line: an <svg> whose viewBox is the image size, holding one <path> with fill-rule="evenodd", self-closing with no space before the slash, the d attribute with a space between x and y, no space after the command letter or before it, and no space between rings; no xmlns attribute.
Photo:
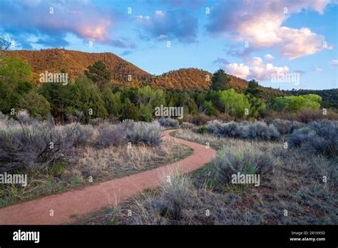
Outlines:
<svg viewBox="0 0 338 248"><path fill-rule="evenodd" d="M217 170L217 179L229 183L233 174L267 174L272 173L277 160L270 153L262 153L252 146L240 150L223 147L212 160Z"/></svg>

